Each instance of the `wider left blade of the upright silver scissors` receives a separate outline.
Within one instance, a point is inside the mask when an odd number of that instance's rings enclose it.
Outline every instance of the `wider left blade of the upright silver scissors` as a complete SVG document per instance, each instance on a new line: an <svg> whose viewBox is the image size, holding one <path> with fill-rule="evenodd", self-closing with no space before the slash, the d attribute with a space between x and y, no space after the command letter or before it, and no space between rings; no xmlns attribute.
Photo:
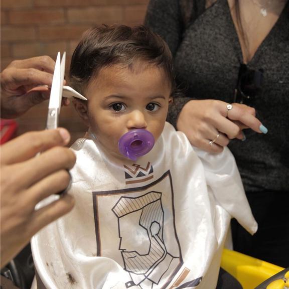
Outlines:
<svg viewBox="0 0 289 289"><path fill-rule="evenodd" d="M61 75L61 67L60 67L60 52L57 54L52 86L50 91L50 99L48 105L48 117L47 117L47 129L57 128L58 126L58 115L59 115L59 98L62 95L60 93L60 75Z"/></svg>

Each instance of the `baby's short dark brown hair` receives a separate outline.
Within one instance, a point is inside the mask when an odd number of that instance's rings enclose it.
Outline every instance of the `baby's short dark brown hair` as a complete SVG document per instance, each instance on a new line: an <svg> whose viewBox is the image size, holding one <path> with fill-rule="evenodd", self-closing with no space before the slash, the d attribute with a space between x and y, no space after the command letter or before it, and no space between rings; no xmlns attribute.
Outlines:
<svg viewBox="0 0 289 289"><path fill-rule="evenodd" d="M101 68L114 64L132 67L136 60L162 68L175 91L172 54L162 38L145 26L102 25L84 32L70 65L70 85L84 93Z"/></svg>

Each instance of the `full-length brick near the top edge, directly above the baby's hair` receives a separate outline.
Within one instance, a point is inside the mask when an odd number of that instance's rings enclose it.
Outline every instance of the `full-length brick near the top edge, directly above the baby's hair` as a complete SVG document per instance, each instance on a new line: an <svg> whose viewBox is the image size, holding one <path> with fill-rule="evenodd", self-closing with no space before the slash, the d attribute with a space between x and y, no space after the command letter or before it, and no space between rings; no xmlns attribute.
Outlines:
<svg viewBox="0 0 289 289"><path fill-rule="evenodd" d="M68 9L67 16L70 23L119 23L122 21L121 7L98 7L85 9Z"/></svg>

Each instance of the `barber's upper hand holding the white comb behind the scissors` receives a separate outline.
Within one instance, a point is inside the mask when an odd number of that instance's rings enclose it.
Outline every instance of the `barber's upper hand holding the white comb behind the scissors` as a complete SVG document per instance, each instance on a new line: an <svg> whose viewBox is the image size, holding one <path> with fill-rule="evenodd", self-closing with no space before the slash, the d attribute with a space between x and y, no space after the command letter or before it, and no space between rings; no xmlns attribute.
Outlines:
<svg viewBox="0 0 289 289"><path fill-rule="evenodd" d="M54 66L49 56L11 62L1 73L1 117L18 117L48 99ZM64 104L68 103L64 99Z"/></svg>

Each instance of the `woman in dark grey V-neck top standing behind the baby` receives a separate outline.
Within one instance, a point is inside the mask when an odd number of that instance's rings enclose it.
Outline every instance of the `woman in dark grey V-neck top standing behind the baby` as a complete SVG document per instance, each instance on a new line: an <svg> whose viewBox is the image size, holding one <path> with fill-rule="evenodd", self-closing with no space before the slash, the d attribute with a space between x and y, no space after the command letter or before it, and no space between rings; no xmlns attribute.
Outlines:
<svg viewBox="0 0 289 289"><path fill-rule="evenodd" d="M193 146L235 157L259 230L233 220L234 249L288 267L289 1L150 0L146 25L188 88L168 121Z"/></svg>

